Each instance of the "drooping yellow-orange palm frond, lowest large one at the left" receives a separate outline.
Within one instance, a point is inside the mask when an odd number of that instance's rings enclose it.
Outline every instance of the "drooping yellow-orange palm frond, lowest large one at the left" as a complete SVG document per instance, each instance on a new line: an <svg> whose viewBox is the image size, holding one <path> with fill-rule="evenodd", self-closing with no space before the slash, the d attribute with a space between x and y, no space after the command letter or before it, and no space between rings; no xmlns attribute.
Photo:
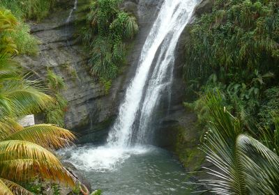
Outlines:
<svg viewBox="0 0 279 195"><path fill-rule="evenodd" d="M0 176L7 180L30 180L40 175L70 186L77 182L75 176L63 168L50 151L28 141L0 142Z"/></svg>

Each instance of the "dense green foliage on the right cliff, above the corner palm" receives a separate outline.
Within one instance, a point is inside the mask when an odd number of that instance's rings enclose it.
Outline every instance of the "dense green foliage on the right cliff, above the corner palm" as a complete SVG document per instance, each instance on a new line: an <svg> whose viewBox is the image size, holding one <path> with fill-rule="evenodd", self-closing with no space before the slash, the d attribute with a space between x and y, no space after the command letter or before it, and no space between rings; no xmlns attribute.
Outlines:
<svg viewBox="0 0 279 195"><path fill-rule="evenodd" d="M218 90L248 128L257 130L259 121L271 124L276 97L266 92L279 84L274 79L279 76L278 7L274 0L219 0L190 29L184 77L194 102L186 105L201 122L210 115L204 97Z"/></svg>

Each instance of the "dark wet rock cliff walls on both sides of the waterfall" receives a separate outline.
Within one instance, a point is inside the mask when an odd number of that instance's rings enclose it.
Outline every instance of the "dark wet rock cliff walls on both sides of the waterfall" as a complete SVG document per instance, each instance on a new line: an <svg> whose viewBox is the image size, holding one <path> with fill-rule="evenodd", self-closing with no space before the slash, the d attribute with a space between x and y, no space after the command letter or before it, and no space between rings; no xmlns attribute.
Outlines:
<svg viewBox="0 0 279 195"><path fill-rule="evenodd" d="M162 0L124 1L121 8L134 13L140 31L133 42L127 42L130 51L126 63L122 65L119 77L112 82L108 93L96 78L86 71L89 54L78 38L80 26L85 20L89 0L78 0L77 9L67 22L75 0L58 1L54 11L42 22L30 23L31 32L40 40L37 56L24 56L24 66L45 79L50 68L66 82L67 89L63 96L68 100L65 123L66 128L77 132L79 143L100 143L105 141L110 125L118 112L119 104L125 95L130 79L135 74L142 45L149 34ZM204 0L197 6L195 18L211 10L213 0ZM182 67L185 56L185 42L189 36L190 24L179 40L174 68L174 83L170 109L167 111L163 100L159 108L158 127L156 128L156 145L168 148L179 156L181 162L190 171L195 170L203 157L197 149L200 131L196 125L196 116L183 107L185 84ZM167 113L167 114L166 114ZM195 155L194 155L195 154Z"/></svg>

